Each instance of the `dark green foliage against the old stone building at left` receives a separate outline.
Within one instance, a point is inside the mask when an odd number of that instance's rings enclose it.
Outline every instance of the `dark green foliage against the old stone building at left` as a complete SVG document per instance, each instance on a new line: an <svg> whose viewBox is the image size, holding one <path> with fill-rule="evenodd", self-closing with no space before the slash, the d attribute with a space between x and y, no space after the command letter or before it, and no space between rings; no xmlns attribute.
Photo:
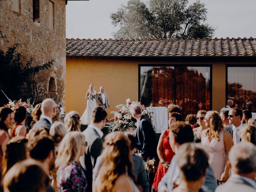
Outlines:
<svg viewBox="0 0 256 192"><path fill-rule="evenodd" d="M42 65L32 66L34 59L22 63L21 54L17 52L18 44L8 48L6 53L0 50L0 89L11 100L26 100L31 95L27 84L39 71L49 68L54 60ZM0 106L8 103L7 98L0 92Z"/></svg>

